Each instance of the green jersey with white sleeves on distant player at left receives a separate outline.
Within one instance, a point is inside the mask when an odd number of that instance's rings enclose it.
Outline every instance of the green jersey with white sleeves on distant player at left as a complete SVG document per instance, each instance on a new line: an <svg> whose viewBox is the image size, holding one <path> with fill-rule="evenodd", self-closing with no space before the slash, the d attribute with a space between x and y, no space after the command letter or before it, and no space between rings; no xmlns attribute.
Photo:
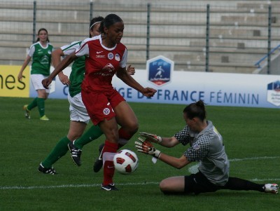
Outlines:
<svg viewBox="0 0 280 211"><path fill-rule="evenodd" d="M28 55L32 57L31 74L50 75L52 50L53 47L50 43L43 47L39 41L29 48Z"/></svg>

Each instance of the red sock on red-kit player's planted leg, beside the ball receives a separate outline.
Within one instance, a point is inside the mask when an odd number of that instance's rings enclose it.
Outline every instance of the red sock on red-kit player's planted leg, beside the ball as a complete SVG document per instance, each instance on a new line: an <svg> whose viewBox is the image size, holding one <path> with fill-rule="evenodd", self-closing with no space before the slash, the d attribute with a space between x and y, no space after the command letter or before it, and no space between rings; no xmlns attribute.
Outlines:
<svg viewBox="0 0 280 211"><path fill-rule="evenodd" d="M111 143L106 140L102 155L106 152L116 153L117 149L118 149L118 144ZM114 172L115 172L115 166L113 164L113 161L104 160L104 165L103 165L103 185L104 186L113 183Z"/></svg>

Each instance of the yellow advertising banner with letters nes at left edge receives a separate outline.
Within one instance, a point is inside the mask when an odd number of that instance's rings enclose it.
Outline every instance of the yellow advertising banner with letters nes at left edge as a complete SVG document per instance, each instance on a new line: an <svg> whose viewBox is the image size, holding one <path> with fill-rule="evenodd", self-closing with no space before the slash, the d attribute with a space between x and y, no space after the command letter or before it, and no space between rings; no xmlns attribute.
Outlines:
<svg viewBox="0 0 280 211"><path fill-rule="evenodd" d="M0 97L29 97L29 67L18 80L21 66L0 65Z"/></svg>

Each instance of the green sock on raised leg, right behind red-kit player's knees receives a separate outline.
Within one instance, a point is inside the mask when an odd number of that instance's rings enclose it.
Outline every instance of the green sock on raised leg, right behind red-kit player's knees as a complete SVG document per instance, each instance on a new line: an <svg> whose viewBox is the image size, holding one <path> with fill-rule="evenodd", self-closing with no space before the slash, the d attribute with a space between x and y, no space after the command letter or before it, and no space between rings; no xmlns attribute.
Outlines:
<svg viewBox="0 0 280 211"><path fill-rule="evenodd" d="M103 134L99 126L92 125L81 137L76 139L74 142L75 147L78 149L83 149L85 144L92 142L94 139L97 139Z"/></svg>

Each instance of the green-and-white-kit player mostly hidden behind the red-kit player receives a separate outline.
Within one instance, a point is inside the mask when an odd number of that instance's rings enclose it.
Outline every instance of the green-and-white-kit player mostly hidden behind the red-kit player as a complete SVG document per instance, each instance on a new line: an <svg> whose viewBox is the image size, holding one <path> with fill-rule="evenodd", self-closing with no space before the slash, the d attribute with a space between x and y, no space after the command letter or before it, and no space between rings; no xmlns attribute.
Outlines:
<svg viewBox="0 0 280 211"><path fill-rule="evenodd" d="M100 21L103 19L103 17L92 19L90 22L90 37L99 35L99 25ZM52 62L54 66L57 67L61 56L70 55L76 51L76 48L80 48L81 42L82 41L76 41L55 50L52 53ZM77 139L77 141L82 142L82 144L87 144L88 142L91 142L92 139L97 139L103 134L98 126L92 125L92 127L90 127L90 129L87 130L82 137L80 137L83 134L87 123L90 121L90 116L87 114L87 109L85 109L85 105L83 104L80 94L80 85L85 76L85 57L78 57L78 59L73 62L69 79L62 72L60 72L58 76L59 80L63 84L69 86L68 100L70 104L70 126L67 136L59 140L54 149L52 149L50 154L40 163L38 167L38 171L50 175L56 174L52 164L66 154L69 143ZM79 137L80 139L78 139ZM80 151L77 153L80 153Z"/></svg>

